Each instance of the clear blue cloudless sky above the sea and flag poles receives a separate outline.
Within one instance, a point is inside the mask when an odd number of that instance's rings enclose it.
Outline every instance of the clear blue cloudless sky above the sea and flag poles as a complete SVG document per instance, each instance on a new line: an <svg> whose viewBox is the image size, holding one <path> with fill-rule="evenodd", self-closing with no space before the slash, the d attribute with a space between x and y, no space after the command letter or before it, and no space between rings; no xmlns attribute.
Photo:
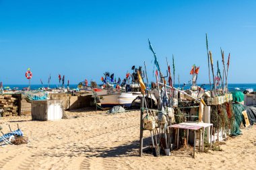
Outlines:
<svg viewBox="0 0 256 170"><path fill-rule="evenodd" d="M52 83L58 74L71 84L100 82L105 71L122 79L146 61L153 78L150 38L162 70L175 57L181 83L193 64L207 83L207 52L221 61L231 53L229 82L256 83L256 1L11 1L0 0L0 81ZM216 69L215 69L216 71ZM177 82L177 80L176 80Z"/></svg>

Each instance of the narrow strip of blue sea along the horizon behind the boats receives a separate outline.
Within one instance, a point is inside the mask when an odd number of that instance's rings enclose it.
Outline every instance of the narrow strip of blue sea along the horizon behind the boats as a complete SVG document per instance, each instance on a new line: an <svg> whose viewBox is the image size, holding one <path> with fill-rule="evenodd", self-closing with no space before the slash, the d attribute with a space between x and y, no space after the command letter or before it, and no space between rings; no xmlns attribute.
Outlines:
<svg viewBox="0 0 256 170"><path fill-rule="evenodd" d="M197 84L198 86L203 85L203 89L210 89L210 85L207 84ZM24 87L28 87L28 85L3 85L3 87L9 87L10 89L13 89L14 87L18 87L19 90L22 90ZM40 87L48 87L48 85L31 85L31 89L39 89ZM49 85L51 89L58 88L59 85ZM67 87L67 85L65 85ZM174 87L183 87L183 84L181 85L174 85ZM184 89L189 89L191 85L185 85ZM76 89L77 85L69 85L70 89ZM237 88L239 88L239 91L245 91L246 89L253 89L256 91L256 83L230 83L228 84L228 91L236 91Z"/></svg>

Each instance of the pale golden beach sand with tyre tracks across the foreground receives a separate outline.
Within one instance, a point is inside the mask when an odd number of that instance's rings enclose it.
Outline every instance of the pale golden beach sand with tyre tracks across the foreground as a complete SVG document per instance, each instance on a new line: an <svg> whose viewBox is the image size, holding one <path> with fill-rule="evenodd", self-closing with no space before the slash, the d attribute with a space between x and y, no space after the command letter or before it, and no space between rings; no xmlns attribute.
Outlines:
<svg viewBox="0 0 256 170"><path fill-rule="evenodd" d="M256 169L256 126L224 141L223 151L196 152L195 159L191 151L139 157L138 111L76 110L67 115L69 119L53 122L4 118L13 130L19 124L30 142L0 147L0 169Z"/></svg>

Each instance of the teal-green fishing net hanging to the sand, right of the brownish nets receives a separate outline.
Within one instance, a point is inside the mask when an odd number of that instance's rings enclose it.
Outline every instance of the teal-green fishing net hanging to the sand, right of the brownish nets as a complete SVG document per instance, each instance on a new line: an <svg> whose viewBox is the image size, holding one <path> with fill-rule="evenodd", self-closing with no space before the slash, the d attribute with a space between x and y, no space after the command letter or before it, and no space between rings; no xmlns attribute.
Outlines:
<svg viewBox="0 0 256 170"><path fill-rule="evenodd" d="M233 113L234 113L234 124L231 128L231 134L234 136L238 136L241 134L240 125L243 122L243 114L242 112L245 110L243 105L239 103L233 104Z"/></svg>

